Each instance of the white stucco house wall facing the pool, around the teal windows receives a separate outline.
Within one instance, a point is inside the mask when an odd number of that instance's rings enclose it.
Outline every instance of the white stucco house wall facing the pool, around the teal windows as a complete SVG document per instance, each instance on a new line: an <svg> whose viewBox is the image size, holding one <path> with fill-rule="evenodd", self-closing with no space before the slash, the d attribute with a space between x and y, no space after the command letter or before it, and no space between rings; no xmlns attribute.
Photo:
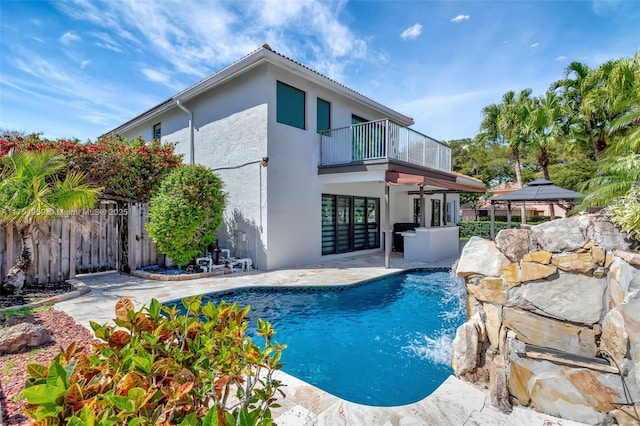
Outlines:
<svg viewBox="0 0 640 426"><path fill-rule="evenodd" d="M384 117L294 73L273 66L268 70L272 102L269 103L268 124L267 267L275 269L322 260L320 207L325 188L318 178L320 136L316 132L317 98L330 102L332 128L351 125L352 114L370 120ZM277 122L277 81L305 92L305 129ZM369 191L367 188L362 186L363 190ZM384 191L382 185L380 188Z"/></svg>

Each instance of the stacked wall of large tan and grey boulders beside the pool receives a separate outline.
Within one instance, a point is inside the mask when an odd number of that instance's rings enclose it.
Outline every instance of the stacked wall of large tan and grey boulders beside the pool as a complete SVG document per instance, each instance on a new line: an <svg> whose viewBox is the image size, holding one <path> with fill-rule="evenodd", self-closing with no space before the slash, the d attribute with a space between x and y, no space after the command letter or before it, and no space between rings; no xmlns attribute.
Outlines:
<svg viewBox="0 0 640 426"><path fill-rule="evenodd" d="M456 265L467 322L457 377L515 404L588 424L640 424L640 253L602 215L473 237ZM640 408L638 408L640 411Z"/></svg>

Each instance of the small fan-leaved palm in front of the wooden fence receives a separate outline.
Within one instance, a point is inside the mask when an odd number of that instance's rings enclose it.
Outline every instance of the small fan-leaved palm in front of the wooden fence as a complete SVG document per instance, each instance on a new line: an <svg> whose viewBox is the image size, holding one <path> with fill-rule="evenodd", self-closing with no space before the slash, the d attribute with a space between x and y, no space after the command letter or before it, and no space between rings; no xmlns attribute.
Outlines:
<svg viewBox="0 0 640 426"><path fill-rule="evenodd" d="M95 205L100 189L83 185L84 174L78 172L68 172L60 180L64 168L64 157L52 150L11 151L2 157L0 224L17 226L22 250L0 289L14 293L24 285L33 262L32 232L39 222Z"/></svg>

